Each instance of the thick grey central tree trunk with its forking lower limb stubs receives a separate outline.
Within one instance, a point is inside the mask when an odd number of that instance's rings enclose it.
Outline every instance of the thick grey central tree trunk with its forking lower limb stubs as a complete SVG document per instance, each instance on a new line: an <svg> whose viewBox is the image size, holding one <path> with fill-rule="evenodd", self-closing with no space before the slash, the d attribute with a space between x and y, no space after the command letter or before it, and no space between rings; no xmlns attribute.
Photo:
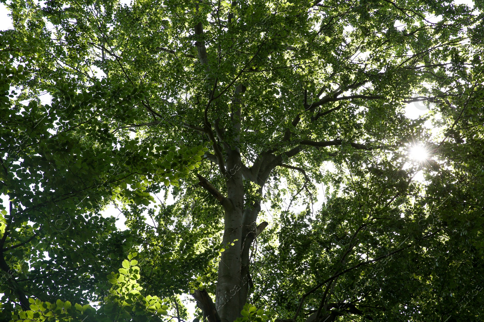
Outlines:
<svg viewBox="0 0 484 322"><path fill-rule="evenodd" d="M238 96L244 90L245 87L243 85L237 87L235 103L239 103ZM236 132L239 132L240 106L236 106L236 112L232 113L232 118L234 128ZM208 124L207 121L206 123ZM212 133L210 126L206 126L208 132ZM224 247L225 251L222 252L218 267L215 308L222 322L233 322L240 316L249 294L249 284L251 284L249 271L250 248L257 237L256 223L257 215L260 211L260 201L244 204L243 179L257 182L259 185L257 192L261 194L262 186L272 169L281 163L281 157L278 158L273 154L269 154L267 159L264 158L259 161L258 166L251 170L242 165L241 154L237 145L231 146L225 142L225 130L219 127L218 121L215 122L215 131L220 142L223 142L225 152L227 153L225 164L223 162L224 157L220 151L215 160L220 167L222 175L226 178L227 197L213 191L216 189L212 189L207 183L202 184L202 186L222 203L225 211L223 245L227 247ZM212 138L212 141L215 142L215 138ZM219 149L218 145L215 144L214 150L217 149ZM217 154L217 151L215 153ZM244 172L245 178L242 178L242 172ZM233 245L231 245L232 243Z"/></svg>

